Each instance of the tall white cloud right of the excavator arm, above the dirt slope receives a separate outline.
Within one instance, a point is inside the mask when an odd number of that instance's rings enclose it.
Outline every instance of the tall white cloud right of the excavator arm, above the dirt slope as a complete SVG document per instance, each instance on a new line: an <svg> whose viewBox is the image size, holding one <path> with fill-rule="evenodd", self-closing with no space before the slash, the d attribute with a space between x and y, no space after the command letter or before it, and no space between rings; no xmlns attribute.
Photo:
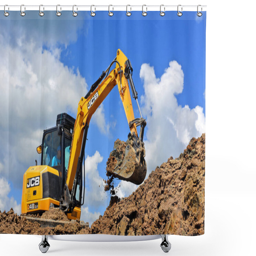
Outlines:
<svg viewBox="0 0 256 256"><path fill-rule="evenodd" d="M184 73L177 61L169 63L161 78L156 77L154 67L142 64L140 78L145 91L141 102L147 119L148 175L170 156L179 156L192 137L205 132L205 116L200 106L191 109L178 104L176 95L183 91Z"/></svg>

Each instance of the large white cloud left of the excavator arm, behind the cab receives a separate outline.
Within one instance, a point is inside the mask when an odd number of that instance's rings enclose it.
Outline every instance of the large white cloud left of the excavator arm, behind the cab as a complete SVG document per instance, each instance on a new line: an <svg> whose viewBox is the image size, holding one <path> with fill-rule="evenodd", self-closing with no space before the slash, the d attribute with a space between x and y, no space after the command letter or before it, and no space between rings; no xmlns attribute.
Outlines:
<svg viewBox="0 0 256 256"><path fill-rule="evenodd" d="M35 163L43 130L55 125L57 114L76 113L87 84L79 70L64 66L35 43L13 48L0 37L1 176L12 172L15 184Z"/></svg>

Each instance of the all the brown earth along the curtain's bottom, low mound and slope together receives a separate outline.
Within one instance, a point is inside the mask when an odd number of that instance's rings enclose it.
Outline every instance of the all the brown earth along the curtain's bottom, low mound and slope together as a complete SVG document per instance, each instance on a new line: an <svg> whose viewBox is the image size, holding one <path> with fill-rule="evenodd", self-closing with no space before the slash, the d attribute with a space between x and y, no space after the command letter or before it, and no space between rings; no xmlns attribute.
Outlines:
<svg viewBox="0 0 256 256"><path fill-rule="evenodd" d="M124 145L120 140L116 143L118 143L117 148L119 145L121 148ZM111 164L116 163L111 162L110 156L107 168L110 168ZM11 209L9 212L0 212L0 233L202 235L204 234L204 171L205 134L202 134L198 139L191 139L178 158L170 157L166 163L157 166L132 195L121 200L112 195L104 215L100 216L91 228L84 226L83 221L68 220L58 208L50 208L42 216L29 215L39 219L68 221L55 228L43 227L37 221L27 220L22 215L18 216Z"/></svg>

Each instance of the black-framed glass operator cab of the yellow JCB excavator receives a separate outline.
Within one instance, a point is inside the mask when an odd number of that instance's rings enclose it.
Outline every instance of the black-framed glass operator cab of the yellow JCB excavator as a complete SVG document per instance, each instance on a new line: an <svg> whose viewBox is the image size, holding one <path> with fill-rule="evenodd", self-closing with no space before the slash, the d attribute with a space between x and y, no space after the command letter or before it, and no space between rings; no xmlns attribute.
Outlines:
<svg viewBox="0 0 256 256"><path fill-rule="evenodd" d="M64 188L67 179L68 161L72 143L72 134L75 119L67 113L57 116L56 126L44 130L42 140L41 165L48 165L59 171L60 191ZM82 179L78 180L76 200L81 204Z"/></svg>

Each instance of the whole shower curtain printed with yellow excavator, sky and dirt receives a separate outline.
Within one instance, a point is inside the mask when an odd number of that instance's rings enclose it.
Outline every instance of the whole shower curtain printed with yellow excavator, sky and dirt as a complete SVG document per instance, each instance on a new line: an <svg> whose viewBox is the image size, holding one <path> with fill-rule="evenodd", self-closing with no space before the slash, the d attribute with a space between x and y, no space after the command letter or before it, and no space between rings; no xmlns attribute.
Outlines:
<svg viewBox="0 0 256 256"><path fill-rule="evenodd" d="M206 12L76 12L0 15L0 233L204 234Z"/></svg>

